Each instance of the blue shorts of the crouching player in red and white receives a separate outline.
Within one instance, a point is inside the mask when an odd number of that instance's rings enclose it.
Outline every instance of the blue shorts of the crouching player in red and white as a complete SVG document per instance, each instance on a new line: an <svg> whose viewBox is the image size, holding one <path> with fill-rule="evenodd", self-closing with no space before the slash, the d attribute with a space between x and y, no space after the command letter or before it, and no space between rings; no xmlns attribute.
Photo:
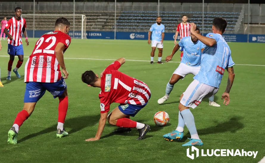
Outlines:
<svg viewBox="0 0 265 163"><path fill-rule="evenodd" d="M119 105L120 111L128 116L135 116L138 111L140 111L142 108L146 106L148 102L146 102L144 105L132 105L132 104L126 104L126 105Z"/></svg>

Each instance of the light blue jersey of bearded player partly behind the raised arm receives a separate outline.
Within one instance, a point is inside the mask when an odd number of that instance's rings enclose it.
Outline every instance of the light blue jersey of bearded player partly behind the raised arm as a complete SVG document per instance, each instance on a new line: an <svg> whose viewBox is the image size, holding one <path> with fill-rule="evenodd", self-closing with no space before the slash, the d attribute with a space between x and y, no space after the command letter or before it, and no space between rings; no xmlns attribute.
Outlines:
<svg viewBox="0 0 265 163"><path fill-rule="evenodd" d="M192 42L191 36L183 37L178 44L183 48L183 57L180 63L188 66L199 66L201 63L201 49L205 45L199 40Z"/></svg>

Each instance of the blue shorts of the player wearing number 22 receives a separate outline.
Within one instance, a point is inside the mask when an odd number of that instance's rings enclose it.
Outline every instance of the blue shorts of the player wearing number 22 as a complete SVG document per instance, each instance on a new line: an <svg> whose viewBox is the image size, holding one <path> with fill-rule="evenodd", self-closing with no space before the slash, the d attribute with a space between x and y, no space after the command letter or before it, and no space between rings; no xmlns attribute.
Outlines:
<svg viewBox="0 0 265 163"><path fill-rule="evenodd" d="M53 95L53 98L57 98L66 90L66 83L63 78L55 83L27 82L24 103L37 102L46 90Z"/></svg>

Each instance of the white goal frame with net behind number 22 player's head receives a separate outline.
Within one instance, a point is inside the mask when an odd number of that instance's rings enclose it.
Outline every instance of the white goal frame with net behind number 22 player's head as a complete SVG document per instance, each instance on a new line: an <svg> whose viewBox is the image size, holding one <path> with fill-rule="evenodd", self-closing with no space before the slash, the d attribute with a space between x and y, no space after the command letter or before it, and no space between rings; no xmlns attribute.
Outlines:
<svg viewBox="0 0 265 163"><path fill-rule="evenodd" d="M69 33L74 38L86 39L86 16L81 14L22 14L27 21L27 29L33 30L33 37L37 30L54 30L57 18L65 17L69 20L71 27ZM77 32L78 31L78 32ZM81 31L79 33L79 31ZM77 36L76 36L77 35ZM81 36L80 36L81 35Z"/></svg>

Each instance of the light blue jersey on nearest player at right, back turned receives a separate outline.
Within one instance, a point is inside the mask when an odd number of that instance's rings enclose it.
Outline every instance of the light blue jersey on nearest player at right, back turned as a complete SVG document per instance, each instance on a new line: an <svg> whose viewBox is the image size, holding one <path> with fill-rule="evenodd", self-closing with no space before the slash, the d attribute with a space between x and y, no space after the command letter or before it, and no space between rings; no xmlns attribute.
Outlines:
<svg viewBox="0 0 265 163"><path fill-rule="evenodd" d="M235 63L231 57L231 50L222 35L208 33L206 37L216 40L213 47L206 46L202 52L201 69L194 79L201 83L219 88L225 69Z"/></svg>

